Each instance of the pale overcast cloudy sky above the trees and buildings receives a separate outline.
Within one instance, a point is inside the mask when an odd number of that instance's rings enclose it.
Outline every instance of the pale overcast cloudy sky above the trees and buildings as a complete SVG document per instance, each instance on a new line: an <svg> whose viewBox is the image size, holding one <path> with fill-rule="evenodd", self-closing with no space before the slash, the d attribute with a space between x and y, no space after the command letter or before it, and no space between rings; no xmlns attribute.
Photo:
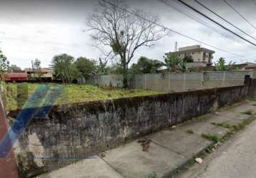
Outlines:
<svg viewBox="0 0 256 178"><path fill-rule="evenodd" d="M170 6L164 5L159 0L130 0L126 2L131 8L143 9L158 14L162 25L168 28L245 57L233 56L230 53L219 51L172 33L171 36L157 41L152 48L141 48L134 57L134 61L139 56L162 60L164 53L174 50L175 41L177 41L178 47L200 44L205 48L210 48L216 51L214 60L220 56L225 57L227 61L232 60L237 63L254 62L256 60L256 46L240 40L214 23L195 14L195 12L189 11L177 1L168 1L182 9L182 11L189 13L189 16L195 16L195 18L201 19L204 24L207 23L208 25L204 26L202 23L198 23L198 20L190 19ZM224 1L200 1L256 38L256 29L235 14L235 11L232 11ZM195 1L187 0L186 2L213 19L220 21L233 31L240 33L200 7ZM228 2L256 26L256 0L228 0ZM42 66L48 67L53 56L60 53L68 53L75 58L79 56L98 58L101 54L92 47L93 41L89 38L90 32L84 31L88 29L86 18L92 13L96 4L97 1L89 0L1 0L0 31L3 32L0 32L1 50L9 58L11 64L16 64L21 68L31 67L31 60L35 58L39 58ZM244 36L242 33L240 35ZM244 37L256 43L256 40L248 36Z"/></svg>

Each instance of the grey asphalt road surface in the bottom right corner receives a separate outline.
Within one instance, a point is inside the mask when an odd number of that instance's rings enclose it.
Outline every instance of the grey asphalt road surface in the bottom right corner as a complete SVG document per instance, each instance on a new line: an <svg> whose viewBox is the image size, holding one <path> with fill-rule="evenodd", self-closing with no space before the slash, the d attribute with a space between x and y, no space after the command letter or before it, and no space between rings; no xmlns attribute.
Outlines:
<svg viewBox="0 0 256 178"><path fill-rule="evenodd" d="M256 121L179 177L256 177Z"/></svg>

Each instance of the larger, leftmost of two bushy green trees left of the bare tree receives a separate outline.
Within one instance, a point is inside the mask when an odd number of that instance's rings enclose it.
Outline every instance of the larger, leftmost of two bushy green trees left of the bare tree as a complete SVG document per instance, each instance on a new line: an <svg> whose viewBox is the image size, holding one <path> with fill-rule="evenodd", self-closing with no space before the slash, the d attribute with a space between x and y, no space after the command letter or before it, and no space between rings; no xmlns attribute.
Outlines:
<svg viewBox="0 0 256 178"><path fill-rule="evenodd" d="M64 83L72 83L80 75L79 70L74 66L74 57L66 53L54 56L51 68L54 71L54 77L61 79Z"/></svg>

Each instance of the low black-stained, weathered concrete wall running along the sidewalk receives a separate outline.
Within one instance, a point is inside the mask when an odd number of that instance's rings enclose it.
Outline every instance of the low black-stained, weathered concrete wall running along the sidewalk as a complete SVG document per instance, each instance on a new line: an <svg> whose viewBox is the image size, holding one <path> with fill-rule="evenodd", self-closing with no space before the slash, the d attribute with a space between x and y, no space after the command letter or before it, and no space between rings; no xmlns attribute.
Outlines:
<svg viewBox="0 0 256 178"><path fill-rule="evenodd" d="M117 147L244 100L248 91L248 86L242 85L55 106L48 117L34 118L19 139L19 167L25 173L56 169L74 162L61 157L84 157ZM9 117L15 117L15 113Z"/></svg>

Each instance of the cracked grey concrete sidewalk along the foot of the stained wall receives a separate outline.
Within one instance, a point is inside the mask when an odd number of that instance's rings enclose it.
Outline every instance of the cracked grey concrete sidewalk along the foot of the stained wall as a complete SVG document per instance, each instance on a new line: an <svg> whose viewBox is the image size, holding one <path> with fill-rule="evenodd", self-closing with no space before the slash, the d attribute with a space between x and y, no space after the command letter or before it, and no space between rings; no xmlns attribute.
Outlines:
<svg viewBox="0 0 256 178"><path fill-rule="evenodd" d="M174 169L212 144L202 134L218 137L227 134L226 128L212 122L237 125L251 116L242 112L256 112L255 104L246 101L175 128L147 135L147 139L151 140L147 151L142 151L141 143L134 140L99 154L101 157L95 155L95 159L85 159L39 177L149 177L152 172L156 172L157 177L168 177Z"/></svg>

